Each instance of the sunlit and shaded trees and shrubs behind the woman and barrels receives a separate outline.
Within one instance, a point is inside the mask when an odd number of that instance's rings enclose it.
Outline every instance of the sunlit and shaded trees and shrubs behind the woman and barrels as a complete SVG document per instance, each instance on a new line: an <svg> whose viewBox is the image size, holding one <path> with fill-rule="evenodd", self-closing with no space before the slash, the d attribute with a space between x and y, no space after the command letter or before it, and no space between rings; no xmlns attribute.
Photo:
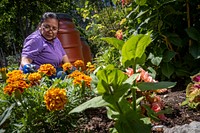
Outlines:
<svg viewBox="0 0 200 133"><path fill-rule="evenodd" d="M123 67L119 51L100 39L122 30L124 41L152 32L143 67L151 66L157 79L185 85L200 69L200 0L2 0L0 7L1 66L6 65L5 57L19 60L25 37L44 12L53 11L73 18L100 66Z"/></svg>

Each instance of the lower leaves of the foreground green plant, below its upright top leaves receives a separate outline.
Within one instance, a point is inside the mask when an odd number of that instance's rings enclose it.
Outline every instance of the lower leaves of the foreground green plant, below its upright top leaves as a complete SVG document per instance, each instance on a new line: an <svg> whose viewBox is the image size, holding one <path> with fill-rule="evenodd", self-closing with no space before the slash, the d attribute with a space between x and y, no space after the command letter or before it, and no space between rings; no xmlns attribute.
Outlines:
<svg viewBox="0 0 200 133"><path fill-rule="evenodd" d="M113 66L108 66L99 70L97 72L97 77L97 90L100 96L74 108L70 111L70 114L81 112L87 108L106 106L108 109L108 116L116 121L115 127L118 132L150 132L150 123L148 121L143 121L145 117L140 114L140 109L137 111L134 110L131 104L125 99L125 94L134 86L133 83L137 76L133 75L128 78L122 71L113 68ZM153 87L160 89L164 87L170 88L174 85L175 83L171 82L141 83L138 84L138 88L142 90L148 88L152 89Z"/></svg>

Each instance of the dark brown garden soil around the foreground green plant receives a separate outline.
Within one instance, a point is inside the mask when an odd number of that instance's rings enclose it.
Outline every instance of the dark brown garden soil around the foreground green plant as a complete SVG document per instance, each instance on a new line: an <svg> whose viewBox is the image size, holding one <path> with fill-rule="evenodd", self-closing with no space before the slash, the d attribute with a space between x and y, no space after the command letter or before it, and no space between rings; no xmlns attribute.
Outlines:
<svg viewBox="0 0 200 133"><path fill-rule="evenodd" d="M192 121L200 121L200 111L192 110L188 106L181 106L185 100L185 90L168 90L165 94L160 94L165 107L171 108L172 113L165 114L166 121L160 121L155 125L162 125L168 128L176 125L189 124ZM77 131L85 133L109 133L109 128L114 126L114 122L109 120L105 108L88 109L85 111L84 120L80 119ZM74 131L73 131L74 132ZM152 131L156 132L157 131Z"/></svg>

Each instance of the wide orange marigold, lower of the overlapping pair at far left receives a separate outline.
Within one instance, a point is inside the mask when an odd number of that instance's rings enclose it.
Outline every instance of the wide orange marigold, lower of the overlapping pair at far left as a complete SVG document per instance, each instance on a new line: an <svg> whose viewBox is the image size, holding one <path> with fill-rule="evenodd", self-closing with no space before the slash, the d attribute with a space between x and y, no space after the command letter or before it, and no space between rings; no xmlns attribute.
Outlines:
<svg viewBox="0 0 200 133"><path fill-rule="evenodd" d="M6 85L3 89L4 94L11 95L16 90L19 90L19 92L24 92L24 89L28 88L29 85L24 80L17 80L13 81L12 83L9 83Z"/></svg>

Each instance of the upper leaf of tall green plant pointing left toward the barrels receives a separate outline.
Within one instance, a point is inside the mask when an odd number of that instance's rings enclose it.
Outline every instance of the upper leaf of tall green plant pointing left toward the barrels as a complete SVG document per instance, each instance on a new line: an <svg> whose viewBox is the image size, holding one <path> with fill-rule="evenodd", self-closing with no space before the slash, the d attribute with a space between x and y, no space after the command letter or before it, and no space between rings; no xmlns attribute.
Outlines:
<svg viewBox="0 0 200 133"><path fill-rule="evenodd" d="M119 40L119 39L114 38L114 37L103 37L101 39L104 40L104 41L106 41L108 44L113 45L118 50L121 50L122 46L124 44L124 41Z"/></svg>

